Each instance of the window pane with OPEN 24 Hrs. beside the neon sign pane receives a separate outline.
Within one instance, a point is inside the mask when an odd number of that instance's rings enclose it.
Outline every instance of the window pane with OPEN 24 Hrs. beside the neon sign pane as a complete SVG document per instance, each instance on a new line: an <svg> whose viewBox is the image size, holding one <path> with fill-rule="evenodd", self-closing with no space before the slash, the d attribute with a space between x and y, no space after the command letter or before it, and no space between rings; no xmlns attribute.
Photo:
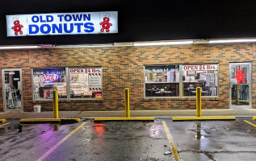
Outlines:
<svg viewBox="0 0 256 161"><path fill-rule="evenodd" d="M70 98L102 98L101 68L69 68Z"/></svg>

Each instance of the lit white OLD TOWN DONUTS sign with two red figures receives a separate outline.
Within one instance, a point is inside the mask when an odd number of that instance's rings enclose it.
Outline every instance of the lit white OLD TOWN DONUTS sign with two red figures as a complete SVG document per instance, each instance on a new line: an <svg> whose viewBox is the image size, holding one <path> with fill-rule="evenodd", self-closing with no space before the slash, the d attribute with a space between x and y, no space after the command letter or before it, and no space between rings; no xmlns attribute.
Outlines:
<svg viewBox="0 0 256 161"><path fill-rule="evenodd" d="M6 15L7 36L118 33L117 11Z"/></svg>

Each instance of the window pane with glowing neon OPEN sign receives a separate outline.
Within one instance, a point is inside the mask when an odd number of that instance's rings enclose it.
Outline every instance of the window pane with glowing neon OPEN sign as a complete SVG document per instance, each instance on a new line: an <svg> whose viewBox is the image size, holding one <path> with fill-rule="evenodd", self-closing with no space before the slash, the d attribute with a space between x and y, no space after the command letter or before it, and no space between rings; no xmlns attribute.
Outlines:
<svg viewBox="0 0 256 161"><path fill-rule="evenodd" d="M52 99L55 89L59 98L67 97L65 68L34 68L32 72L35 100Z"/></svg>

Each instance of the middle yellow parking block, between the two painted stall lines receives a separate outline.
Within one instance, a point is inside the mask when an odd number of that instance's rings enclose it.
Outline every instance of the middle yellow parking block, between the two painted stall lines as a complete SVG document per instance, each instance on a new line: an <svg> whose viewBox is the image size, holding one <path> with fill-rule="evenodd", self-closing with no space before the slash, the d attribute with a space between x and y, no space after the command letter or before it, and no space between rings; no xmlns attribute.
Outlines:
<svg viewBox="0 0 256 161"><path fill-rule="evenodd" d="M94 118L94 122L120 122L120 121L154 122L154 118Z"/></svg>

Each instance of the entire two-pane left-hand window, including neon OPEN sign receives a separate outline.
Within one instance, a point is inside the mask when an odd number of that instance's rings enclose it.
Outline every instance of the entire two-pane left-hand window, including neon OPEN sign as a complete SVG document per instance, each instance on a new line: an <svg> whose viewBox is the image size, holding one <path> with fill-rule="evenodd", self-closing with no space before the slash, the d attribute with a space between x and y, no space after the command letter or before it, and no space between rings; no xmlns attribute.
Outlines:
<svg viewBox="0 0 256 161"><path fill-rule="evenodd" d="M57 89L62 99L102 99L102 68L33 68L34 100L52 99ZM69 79L67 79L69 78Z"/></svg>

